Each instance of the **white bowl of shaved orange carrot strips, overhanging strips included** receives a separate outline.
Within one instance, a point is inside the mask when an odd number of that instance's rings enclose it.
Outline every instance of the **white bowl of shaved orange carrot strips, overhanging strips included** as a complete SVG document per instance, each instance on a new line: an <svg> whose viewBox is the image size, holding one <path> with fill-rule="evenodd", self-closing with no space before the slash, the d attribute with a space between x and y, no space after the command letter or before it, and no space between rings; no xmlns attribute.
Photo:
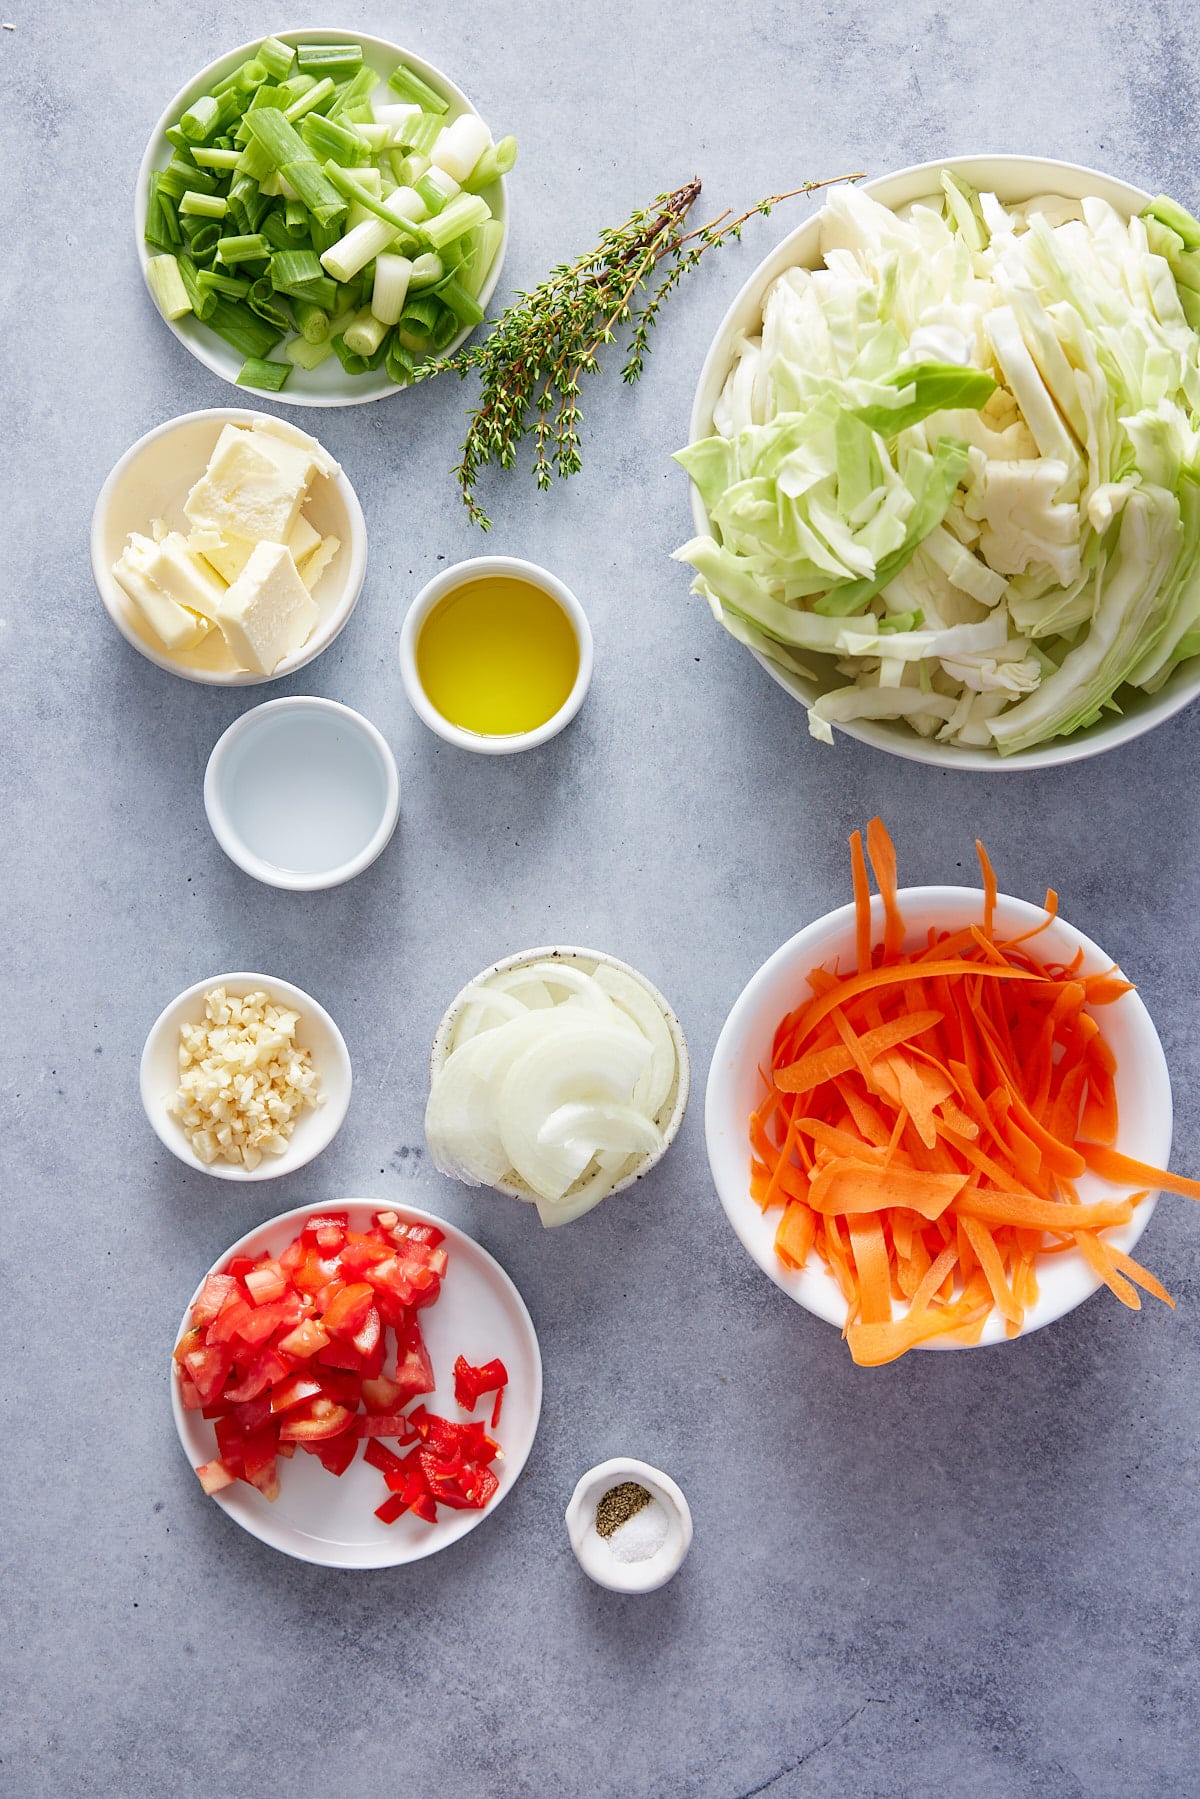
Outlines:
<svg viewBox="0 0 1200 1799"><path fill-rule="evenodd" d="M880 883L783 944L721 1029L709 1162L741 1243L856 1362L1024 1337L1101 1284L1168 1299L1130 1252L1166 1173L1150 1013L1083 932L982 889ZM864 970L864 973L860 973ZM1169 1301L1168 1301L1169 1302Z"/></svg>

